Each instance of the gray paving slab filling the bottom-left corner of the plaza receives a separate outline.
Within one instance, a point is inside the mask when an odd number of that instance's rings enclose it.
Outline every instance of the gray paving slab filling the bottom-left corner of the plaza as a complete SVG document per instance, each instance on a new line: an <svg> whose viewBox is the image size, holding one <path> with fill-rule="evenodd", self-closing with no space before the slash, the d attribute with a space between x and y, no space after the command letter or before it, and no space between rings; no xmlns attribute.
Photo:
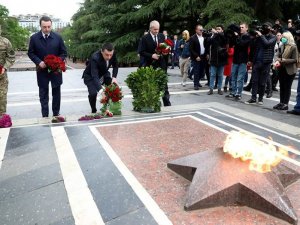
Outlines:
<svg viewBox="0 0 300 225"><path fill-rule="evenodd" d="M72 217L64 183L0 201L1 225L44 225Z"/></svg>

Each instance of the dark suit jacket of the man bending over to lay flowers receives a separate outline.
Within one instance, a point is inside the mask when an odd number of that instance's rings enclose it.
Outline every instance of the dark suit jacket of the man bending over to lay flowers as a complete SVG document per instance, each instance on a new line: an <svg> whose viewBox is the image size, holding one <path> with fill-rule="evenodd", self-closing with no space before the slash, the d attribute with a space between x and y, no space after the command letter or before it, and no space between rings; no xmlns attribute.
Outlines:
<svg viewBox="0 0 300 225"><path fill-rule="evenodd" d="M97 91L99 91L102 83L111 83L111 76L108 71L111 66L113 67L112 77L117 77L118 62L115 52L112 58L109 60L108 67L106 60L104 60L100 51L93 53L87 67L83 71L82 78L84 79L84 83L86 85L91 83L94 84ZM102 80L103 82L101 83Z"/></svg>

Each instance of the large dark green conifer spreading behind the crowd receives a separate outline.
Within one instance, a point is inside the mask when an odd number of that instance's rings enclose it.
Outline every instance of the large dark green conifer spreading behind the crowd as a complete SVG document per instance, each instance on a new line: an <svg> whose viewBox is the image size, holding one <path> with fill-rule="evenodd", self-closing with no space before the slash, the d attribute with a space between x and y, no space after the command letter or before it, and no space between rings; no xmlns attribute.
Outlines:
<svg viewBox="0 0 300 225"><path fill-rule="evenodd" d="M86 59L104 42L116 46L121 63L136 63L140 37L149 22L158 20L161 30L180 34L205 27L259 19L287 19L300 12L300 0L85 0L65 31L70 54ZM63 32L64 33L64 32Z"/></svg>

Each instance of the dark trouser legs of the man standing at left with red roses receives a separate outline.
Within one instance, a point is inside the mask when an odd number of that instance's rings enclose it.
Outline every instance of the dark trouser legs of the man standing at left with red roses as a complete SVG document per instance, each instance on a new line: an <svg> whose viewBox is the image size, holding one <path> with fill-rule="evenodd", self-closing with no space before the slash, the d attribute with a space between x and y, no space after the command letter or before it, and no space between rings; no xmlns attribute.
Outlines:
<svg viewBox="0 0 300 225"><path fill-rule="evenodd" d="M43 117L49 116L49 88L39 87L39 97ZM60 86L52 88L52 112L53 116L59 115L61 92Z"/></svg>

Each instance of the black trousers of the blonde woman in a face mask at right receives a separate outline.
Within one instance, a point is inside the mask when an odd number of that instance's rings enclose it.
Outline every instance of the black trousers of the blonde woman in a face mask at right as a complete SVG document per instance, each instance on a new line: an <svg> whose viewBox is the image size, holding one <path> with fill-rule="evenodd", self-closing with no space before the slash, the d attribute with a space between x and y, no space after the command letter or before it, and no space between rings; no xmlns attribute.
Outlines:
<svg viewBox="0 0 300 225"><path fill-rule="evenodd" d="M284 67L279 70L280 103L289 104L291 88L296 74L288 75Z"/></svg>

